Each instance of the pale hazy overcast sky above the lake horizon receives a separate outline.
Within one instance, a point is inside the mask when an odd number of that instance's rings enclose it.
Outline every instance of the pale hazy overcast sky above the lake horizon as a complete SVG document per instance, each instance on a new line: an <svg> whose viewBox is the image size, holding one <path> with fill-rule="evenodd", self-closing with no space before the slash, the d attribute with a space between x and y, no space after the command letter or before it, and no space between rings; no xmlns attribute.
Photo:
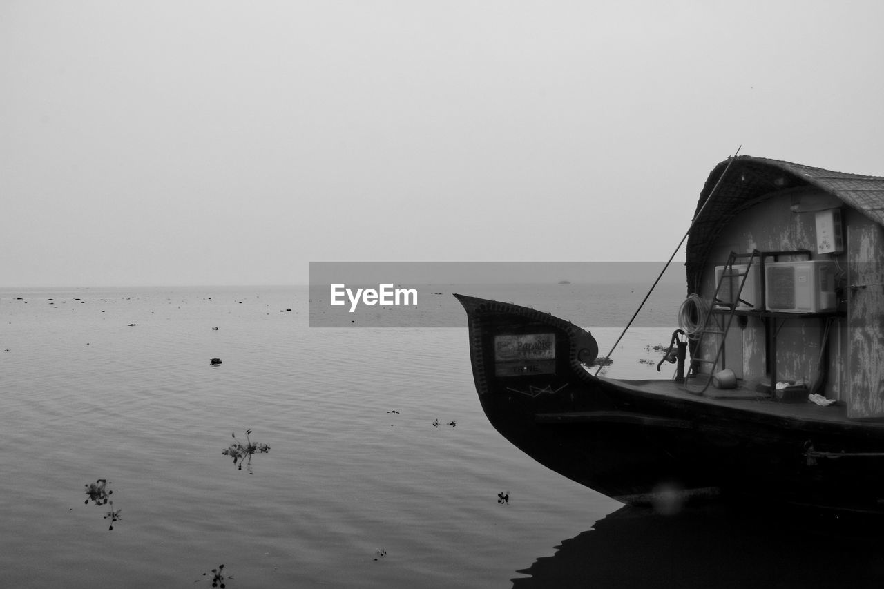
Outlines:
<svg viewBox="0 0 884 589"><path fill-rule="evenodd" d="M5 0L0 286L665 260L740 144L884 175L882 21L878 0Z"/></svg>

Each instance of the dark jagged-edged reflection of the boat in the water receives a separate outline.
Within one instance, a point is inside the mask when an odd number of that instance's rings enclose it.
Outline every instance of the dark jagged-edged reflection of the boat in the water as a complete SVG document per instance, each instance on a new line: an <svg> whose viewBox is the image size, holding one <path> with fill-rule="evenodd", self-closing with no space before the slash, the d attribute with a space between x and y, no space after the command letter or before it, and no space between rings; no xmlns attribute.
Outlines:
<svg viewBox="0 0 884 589"><path fill-rule="evenodd" d="M518 570L530 577L513 587L881 587L880 524L722 507L661 516L627 506Z"/></svg>

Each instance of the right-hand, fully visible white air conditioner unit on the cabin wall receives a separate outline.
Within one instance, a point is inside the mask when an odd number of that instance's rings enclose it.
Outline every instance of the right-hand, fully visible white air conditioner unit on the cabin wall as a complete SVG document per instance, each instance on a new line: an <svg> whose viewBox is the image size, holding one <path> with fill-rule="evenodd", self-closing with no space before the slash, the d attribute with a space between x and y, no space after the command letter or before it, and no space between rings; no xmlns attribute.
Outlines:
<svg viewBox="0 0 884 589"><path fill-rule="evenodd" d="M835 310L834 264L825 260L765 264L767 310L821 313Z"/></svg>

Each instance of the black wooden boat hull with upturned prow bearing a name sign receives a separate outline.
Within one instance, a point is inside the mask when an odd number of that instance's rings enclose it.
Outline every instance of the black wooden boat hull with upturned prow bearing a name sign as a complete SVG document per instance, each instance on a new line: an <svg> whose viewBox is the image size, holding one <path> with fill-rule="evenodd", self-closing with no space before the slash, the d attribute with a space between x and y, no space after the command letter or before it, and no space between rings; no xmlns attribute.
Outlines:
<svg viewBox="0 0 884 589"><path fill-rule="evenodd" d="M585 367L590 333L455 295L485 415L537 462L630 504L723 497L884 513L884 426L811 407L721 402ZM833 409L836 411L837 409Z"/></svg>

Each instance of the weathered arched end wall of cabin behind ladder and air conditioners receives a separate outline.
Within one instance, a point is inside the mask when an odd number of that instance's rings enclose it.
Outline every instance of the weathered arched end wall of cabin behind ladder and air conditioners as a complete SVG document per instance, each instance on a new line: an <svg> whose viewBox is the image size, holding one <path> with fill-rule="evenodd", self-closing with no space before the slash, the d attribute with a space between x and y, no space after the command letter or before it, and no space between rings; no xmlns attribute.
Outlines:
<svg viewBox="0 0 884 589"><path fill-rule="evenodd" d="M714 267L727 263L731 251L750 253L753 249L761 251L785 251L807 249L812 252L812 259L833 259L846 269L848 253L838 256L816 254L816 214L814 210L796 212L791 210L793 204L826 203L831 199L815 188L781 190L765 201L739 213L728 226L722 228L714 241L702 281L701 295L709 301L715 292ZM831 202L831 201L829 201ZM846 208L845 208L846 209ZM852 211L855 213L855 211ZM845 211L844 225L857 222L861 218L858 213L847 214ZM871 223L871 222L869 222ZM881 241L884 243L884 241ZM845 247L847 243L845 242ZM870 245L874 249L875 245ZM789 257L781 257L780 261L788 261ZM798 257L795 259L804 259ZM770 260L769 260L770 261ZM884 281L884 280L882 280ZM776 380L813 380L819 374L821 343L825 330L825 320L813 317L794 316L768 319L774 322L776 330ZM845 399L849 396L850 380L844 370L848 352L848 321L836 318L830 327L828 338L827 386L825 394L830 398ZM884 334L882 334L884 335ZM719 364L715 370L730 368L738 378L742 378L744 386L753 383L770 382L772 365L768 355L770 333L767 333L765 320L759 317L748 317L738 322L737 318L728 332L725 347L725 363ZM713 343L713 338L707 340ZM699 355L712 358L715 346L707 346L698 350ZM866 342L871 350L875 349L875 341ZM879 346L876 349L881 349ZM884 409L884 396L880 398L880 407Z"/></svg>

